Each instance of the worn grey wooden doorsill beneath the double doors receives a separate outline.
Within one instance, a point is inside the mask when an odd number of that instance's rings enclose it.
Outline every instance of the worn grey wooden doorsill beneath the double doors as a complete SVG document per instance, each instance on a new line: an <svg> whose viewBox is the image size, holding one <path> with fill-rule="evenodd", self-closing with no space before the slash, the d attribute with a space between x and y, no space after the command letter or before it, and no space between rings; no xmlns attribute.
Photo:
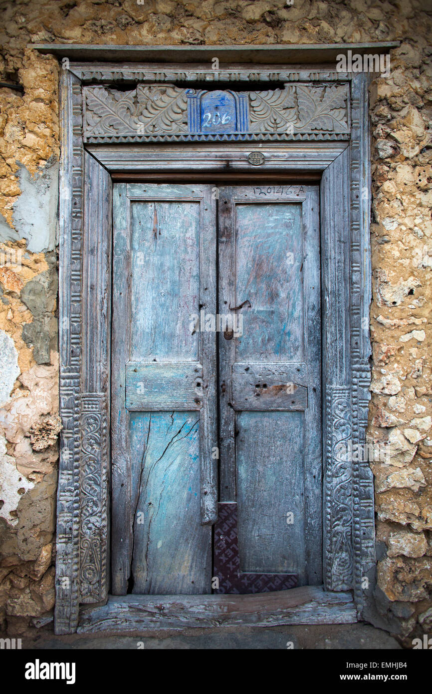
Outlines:
<svg viewBox="0 0 432 694"><path fill-rule="evenodd" d="M78 633L354 624L356 621L352 593L302 586L253 595L110 595L107 604L80 610Z"/></svg>

